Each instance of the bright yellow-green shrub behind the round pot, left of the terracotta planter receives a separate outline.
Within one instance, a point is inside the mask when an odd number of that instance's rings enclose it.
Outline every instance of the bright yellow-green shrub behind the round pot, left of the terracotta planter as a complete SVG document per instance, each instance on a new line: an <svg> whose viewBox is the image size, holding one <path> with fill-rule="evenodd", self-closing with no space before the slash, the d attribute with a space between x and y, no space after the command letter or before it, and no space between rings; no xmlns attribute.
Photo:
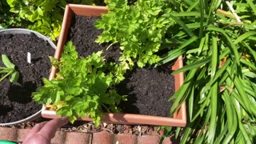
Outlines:
<svg viewBox="0 0 256 144"><path fill-rule="evenodd" d="M10 12L21 20L22 27L36 30L55 41L61 29L65 0L6 0L6 2L10 6Z"/></svg>

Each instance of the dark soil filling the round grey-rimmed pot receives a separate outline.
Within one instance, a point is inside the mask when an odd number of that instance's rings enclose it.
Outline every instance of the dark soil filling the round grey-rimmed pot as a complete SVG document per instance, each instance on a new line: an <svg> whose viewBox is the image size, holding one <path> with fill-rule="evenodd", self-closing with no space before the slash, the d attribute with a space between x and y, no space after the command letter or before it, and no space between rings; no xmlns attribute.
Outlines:
<svg viewBox="0 0 256 144"><path fill-rule="evenodd" d="M31 63L27 62L28 52ZM42 109L32 100L31 93L42 86L43 77L48 78L48 57L54 54L54 49L35 34L0 34L0 54L6 54L20 74L16 83L9 82L9 78L0 82L0 123L27 118ZM2 61L0 66L4 66Z"/></svg>

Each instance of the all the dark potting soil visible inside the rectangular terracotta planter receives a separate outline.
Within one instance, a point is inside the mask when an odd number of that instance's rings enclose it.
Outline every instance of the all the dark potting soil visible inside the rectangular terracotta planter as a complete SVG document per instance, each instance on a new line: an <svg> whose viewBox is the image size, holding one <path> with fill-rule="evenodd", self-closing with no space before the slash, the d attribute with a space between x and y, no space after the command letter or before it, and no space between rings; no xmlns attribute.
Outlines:
<svg viewBox="0 0 256 144"><path fill-rule="evenodd" d="M74 15L67 41L73 42L79 57L103 50L107 62L118 62L118 45L106 50L109 44L98 45L94 42L102 33L94 27L98 18ZM118 94L128 95L128 101L120 104L123 112L169 117L172 103L168 100L174 94L174 77L170 75L170 70L171 67L166 65L164 68L137 68L127 72L126 80L114 88Z"/></svg>

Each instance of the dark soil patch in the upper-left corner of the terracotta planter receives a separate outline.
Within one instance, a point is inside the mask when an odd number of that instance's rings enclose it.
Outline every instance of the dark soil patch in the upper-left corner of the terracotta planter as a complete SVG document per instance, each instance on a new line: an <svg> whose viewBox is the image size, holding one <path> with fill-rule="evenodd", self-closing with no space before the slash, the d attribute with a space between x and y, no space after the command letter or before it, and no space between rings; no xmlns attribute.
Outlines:
<svg viewBox="0 0 256 144"><path fill-rule="evenodd" d="M103 54L106 58L106 62L118 62L120 57L120 50L118 44L110 46L110 43L103 43L99 45L94 42L98 35L102 34L102 30L98 30L94 27L94 23L100 17L86 17L74 15L68 33L68 41L72 41L76 46L76 50L79 51L80 58L87 57L90 54L103 50ZM108 50L106 48L110 46Z"/></svg>

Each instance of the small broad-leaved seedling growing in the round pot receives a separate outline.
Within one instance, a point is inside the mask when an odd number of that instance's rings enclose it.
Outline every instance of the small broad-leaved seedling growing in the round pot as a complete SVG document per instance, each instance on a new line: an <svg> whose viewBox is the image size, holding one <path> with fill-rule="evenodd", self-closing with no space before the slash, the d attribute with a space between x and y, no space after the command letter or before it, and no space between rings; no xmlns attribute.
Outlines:
<svg viewBox="0 0 256 144"><path fill-rule="evenodd" d="M0 78L0 82L2 82L8 76L10 76L10 82L17 82L19 78L19 73L17 70L15 70L15 65L10 62L10 59L7 57L6 54L2 54L2 63L6 67L0 67L0 74L3 74L2 78Z"/></svg>

